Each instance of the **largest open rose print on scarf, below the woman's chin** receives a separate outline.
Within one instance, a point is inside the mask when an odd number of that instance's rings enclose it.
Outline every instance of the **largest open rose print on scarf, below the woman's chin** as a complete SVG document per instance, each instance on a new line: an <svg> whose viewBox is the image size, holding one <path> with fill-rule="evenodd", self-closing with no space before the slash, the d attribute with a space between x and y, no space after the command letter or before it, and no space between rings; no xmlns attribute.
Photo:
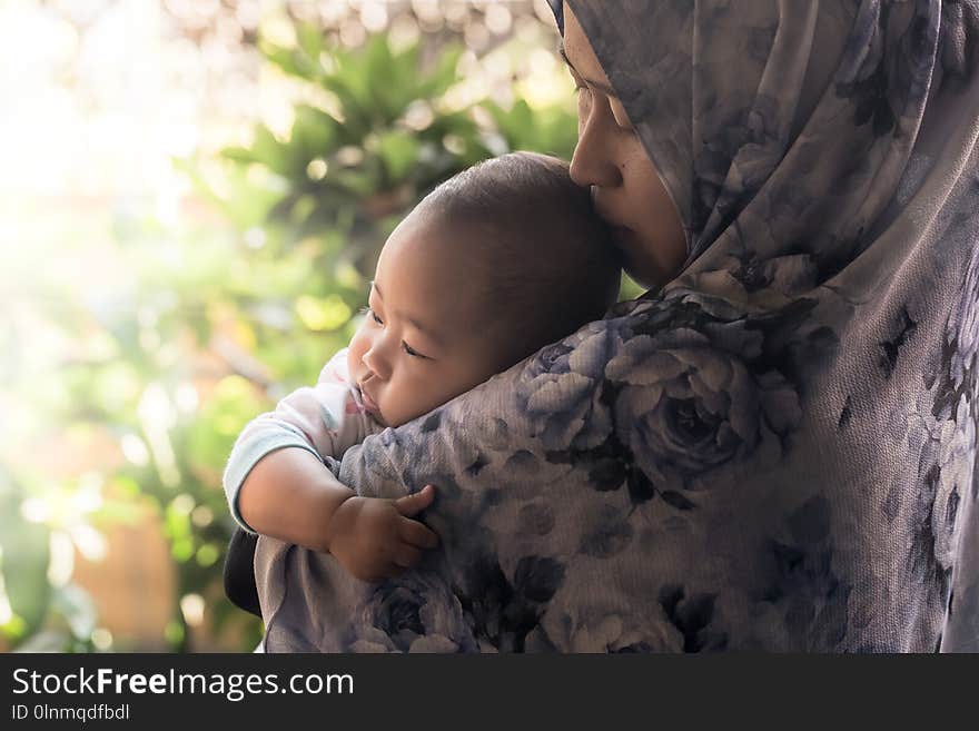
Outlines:
<svg viewBox="0 0 979 731"><path fill-rule="evenodd" d="M693 299L651 310L605 368L614 391L616 433L653 484L694 486L695 478L781 441L801 417L794 387L763 353L763 325L723 300ZM736 316L735 316L736 317ZM772 338L774 339L774 338ZM738 355L735 355L738 354Z"/></svg>

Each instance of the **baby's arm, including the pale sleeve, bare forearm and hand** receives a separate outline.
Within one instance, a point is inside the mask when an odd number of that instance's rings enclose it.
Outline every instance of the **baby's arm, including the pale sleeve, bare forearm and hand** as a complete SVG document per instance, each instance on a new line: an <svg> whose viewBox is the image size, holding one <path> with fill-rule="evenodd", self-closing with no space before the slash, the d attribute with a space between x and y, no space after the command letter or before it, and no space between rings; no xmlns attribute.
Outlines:
<svg viewBox="0 0 979 731"><path fill-rule="evenodd" d="M246 531L333 553L359 579L414 565L436 539L407 516L431 503L432 491L402 501L356 497L323 464L378 428L353 397L342 350L315 387L294 392L241 432L225 471L235 518Z"/></svg>

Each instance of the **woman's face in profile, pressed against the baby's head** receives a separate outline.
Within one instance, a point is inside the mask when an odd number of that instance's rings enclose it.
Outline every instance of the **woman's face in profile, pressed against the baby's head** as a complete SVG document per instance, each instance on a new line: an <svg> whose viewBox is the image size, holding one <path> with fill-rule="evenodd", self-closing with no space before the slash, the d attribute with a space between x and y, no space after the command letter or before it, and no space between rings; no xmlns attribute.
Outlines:
<svg viewBox="0 0 979 731"><path fill-rule="evenodd" d="M641 285L657 288L675 277L686 260L683 226L567 3L563 56L578 95L571 177L592 187L599 214L614 227L625 270Z"/></svg>

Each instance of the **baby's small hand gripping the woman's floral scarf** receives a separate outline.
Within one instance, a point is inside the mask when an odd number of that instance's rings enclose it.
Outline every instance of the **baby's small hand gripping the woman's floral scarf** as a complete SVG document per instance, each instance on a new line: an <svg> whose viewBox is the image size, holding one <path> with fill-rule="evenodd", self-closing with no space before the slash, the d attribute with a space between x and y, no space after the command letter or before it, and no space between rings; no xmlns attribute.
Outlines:
<svg viewBox="0 0 979 731"><path fill-rule="evenodd" d="M432 485L398 500L348 497L329 523L329 552L362 581L397 576L422 560L424 549L438 545L435 533L411 520L434 497Z"/></svg>

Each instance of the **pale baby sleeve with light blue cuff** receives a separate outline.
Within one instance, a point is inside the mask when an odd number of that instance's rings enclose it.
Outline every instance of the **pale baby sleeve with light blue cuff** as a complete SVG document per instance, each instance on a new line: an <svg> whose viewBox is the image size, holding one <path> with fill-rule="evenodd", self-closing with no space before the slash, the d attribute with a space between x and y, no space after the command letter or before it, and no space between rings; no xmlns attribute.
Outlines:
<svg viewBox="0 0 979 731"><path fill-rule="evenodd" d="M248 474L271 452L306 450L320 462L339 458L380 426L364 411L350 385L344 348L327 363L315 386L304 386L283 398L275 411L255 417L238 435L224 473L225 494L235 521L255 531L241 517L238 493Z"/></svg>

